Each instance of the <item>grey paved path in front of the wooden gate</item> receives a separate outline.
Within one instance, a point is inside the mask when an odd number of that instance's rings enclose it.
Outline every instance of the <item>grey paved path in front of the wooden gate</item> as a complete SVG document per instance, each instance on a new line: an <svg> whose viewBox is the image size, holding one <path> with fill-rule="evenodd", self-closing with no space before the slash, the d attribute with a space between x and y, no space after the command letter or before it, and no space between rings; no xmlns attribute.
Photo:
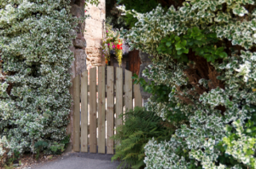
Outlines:
<svg viewBox="0 0 256 169"><path fill-rule="evenodd" d="M116 169L119 162L111 162L113 155L70 153L55 161L32 166L32 169Z"/></svg>

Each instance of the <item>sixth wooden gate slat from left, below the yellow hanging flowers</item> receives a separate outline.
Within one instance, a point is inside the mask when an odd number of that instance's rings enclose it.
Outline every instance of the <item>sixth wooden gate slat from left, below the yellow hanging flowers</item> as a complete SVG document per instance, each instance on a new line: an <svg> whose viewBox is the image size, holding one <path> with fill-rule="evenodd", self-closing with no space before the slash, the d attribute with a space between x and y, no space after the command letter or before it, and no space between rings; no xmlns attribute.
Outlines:
<svg viewBox="0 0 256 169"><path fill-rule="evenodd" d="M119 115L122 114L123 112L123 69L117 67L116 68L116 72L115 72L116 76L115 76L115 82L116 82L116 93L115 93L115 97L116 97L116 127L119 127L119 125L122 124L122 119L119 118Z"/></svg>

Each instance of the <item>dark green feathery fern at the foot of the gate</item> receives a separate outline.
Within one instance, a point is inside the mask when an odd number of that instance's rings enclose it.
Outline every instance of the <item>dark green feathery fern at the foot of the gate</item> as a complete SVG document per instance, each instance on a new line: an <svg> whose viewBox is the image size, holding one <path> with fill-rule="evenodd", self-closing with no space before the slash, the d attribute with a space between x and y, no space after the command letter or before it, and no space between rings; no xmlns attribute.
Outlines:
<svg viewBox="0 0 256 169"><path fill-rule="evenodd" d="M123 115L119 118L123 118ZM172 129L166 127L164 121L155 116L154 112L136 107L125 113L124 124L117 127L113 140L119 144L115 147L112 161L121 160L119 167L143 168L145 166L144 146L148 140L151 138L158 141L170 139L171 134Z"/></svg>

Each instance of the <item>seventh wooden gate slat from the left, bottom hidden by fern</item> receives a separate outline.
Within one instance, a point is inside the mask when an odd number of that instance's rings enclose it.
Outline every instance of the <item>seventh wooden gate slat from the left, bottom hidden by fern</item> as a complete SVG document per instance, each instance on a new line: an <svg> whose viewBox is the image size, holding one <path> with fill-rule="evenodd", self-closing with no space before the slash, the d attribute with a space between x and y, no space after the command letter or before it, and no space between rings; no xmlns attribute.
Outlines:
<svg viewBox="0 0 256 169"><path fill-rule="evenodd" d="M131 76L131 71L125 70L125 111L131 110L133 108Z"/></svg>

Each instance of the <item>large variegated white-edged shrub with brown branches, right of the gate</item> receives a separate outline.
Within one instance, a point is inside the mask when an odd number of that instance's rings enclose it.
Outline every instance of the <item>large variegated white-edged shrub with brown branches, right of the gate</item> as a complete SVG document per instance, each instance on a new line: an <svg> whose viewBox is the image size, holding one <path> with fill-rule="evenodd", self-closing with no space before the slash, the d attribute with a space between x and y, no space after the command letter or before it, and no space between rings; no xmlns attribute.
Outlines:
<svg viewBox="0 0 256 169"><path fill-rule="evenodd" d="M122 34L154 55L143 74L168 95L153 95L147 110L177 127L170 140L149 140L146 168L256 168L254 1L189 0L133 14L138 22Z"/></svg>

